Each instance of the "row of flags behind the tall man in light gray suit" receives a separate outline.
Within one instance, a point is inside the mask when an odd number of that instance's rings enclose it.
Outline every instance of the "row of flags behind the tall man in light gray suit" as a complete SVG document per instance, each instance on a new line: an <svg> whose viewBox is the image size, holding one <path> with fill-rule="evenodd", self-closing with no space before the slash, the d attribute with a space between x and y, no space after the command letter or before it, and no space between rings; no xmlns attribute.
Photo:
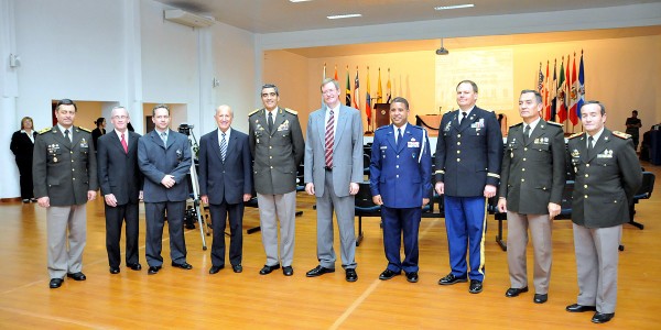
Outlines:
<svg viewBox="0 0 661 330"><path fill-rule="evenodd" d="M326 64L324 63L324 76L323 78L327 78L326 76ZM337 76L337 65L335 66L335 76L334 79L339 81ZM369 66L367 67L367 88L365 91L365 103L360 102L360 81L358 79L358 66L356 66L356 78L354 78L354 84L351 84L351 78L349 74L349 66L347 65L347 81L346 81L346 90L345 90L345 105L347 107L354 107L358 110L360 108L365 109L365 114L367 116L367 124L370 125L371 120L371 110L372 105L376 103L390 103L390 99L392 98L391 88L392 84L390 82L390 68L388 68L388 82L386 84L386 96L383 96L383 89L381 87L381 68L379 68L379 80L377 81L377 96L372 97L370 94L370 84L369 84ZM354 92L351 92L351 85L354 86ZM323 100L322 100L323 101ZM372 102L373 101L373 102Z"/></svg>

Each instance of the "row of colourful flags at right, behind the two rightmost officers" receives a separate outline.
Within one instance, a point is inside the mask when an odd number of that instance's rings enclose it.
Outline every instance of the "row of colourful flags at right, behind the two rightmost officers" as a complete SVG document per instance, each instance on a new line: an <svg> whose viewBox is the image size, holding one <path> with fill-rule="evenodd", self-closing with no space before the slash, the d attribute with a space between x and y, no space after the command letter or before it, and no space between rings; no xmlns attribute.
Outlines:
<svg viewBox="0 0 661 330"><path fill-rule="evenodd" d="M566 63L566 64L565 64ZM571 64L571 67L570 67ZM553 78L549 72L550 62L546 61L546 74L538 74L538 90L544 101L543 117L546 121L555 121L568 127L575 127L581 119L581 106L585 102L585 72L583 67L583 51L576 73L576 53L571 61L570 55L562 56L560 75L557 75L557 58L553 59ZM568 120L568 121L567 121Z"/></svg>

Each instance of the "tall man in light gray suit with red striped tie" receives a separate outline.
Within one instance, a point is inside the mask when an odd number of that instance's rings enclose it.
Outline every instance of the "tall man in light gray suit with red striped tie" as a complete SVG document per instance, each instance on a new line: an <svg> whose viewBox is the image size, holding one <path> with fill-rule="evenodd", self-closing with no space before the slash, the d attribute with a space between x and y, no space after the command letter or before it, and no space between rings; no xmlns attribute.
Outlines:
<svg viewBox="0 0 661 330"><path fill-rule="evenodd" d="M339 84L322 81L324 107L310 114L305 144L305 191L316 196L317 258L307 277L335 272L333 210L337 217L342 266L347 282L356 274L355 195L362 182L362 120L360 112L339 102Z"/></svg>

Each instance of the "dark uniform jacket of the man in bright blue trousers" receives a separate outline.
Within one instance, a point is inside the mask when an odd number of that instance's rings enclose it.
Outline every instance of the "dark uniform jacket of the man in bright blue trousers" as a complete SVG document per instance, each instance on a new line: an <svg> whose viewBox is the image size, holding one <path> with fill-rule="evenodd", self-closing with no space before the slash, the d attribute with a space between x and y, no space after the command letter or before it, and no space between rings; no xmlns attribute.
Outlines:
<svg viewBox="0 0 661 330"><path fill-rule="evenodd" d="M460 110L443 114L436 141L436 182L445 195L483 196L486 185L498 187L502 162L502 133L491 111L475 106L459 124Z"/></svg>

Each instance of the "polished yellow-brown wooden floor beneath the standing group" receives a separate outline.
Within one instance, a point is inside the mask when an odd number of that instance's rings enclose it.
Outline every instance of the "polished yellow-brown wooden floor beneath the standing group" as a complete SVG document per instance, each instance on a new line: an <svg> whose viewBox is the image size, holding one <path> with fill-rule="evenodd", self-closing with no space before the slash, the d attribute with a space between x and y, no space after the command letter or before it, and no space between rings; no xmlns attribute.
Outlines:
<svg viewBox="0 0 661 330"><path fill-rule="evenodd" d="M659 176L661 167L643 164ZM624 228L616 317L609 329L659 329L661 310L661 190L638 205L644 230ZM571 221L553 227L553 275L549 301L532 302L533 293L506 298L509 287L506 253L495 242L497 222L489 217L485 289L468 293L467 284L440 286L449 272L444 219L423 219L420 229L420 282L404 276L378 279L387 265L379 219L364 222L365 240L357 248L358 276L347 283L344 272L306 278L317 265L316 212L313 198L299 195L303 216L296 221L294 276L277 271L261 276L264 253L259 233L243 235L243 273L225 268L209 275L209 250L202 250L198 230L186 231L187 261L194 268L170 266L167 241L164 267L147 275L144 223L140 258L143 271L121 267L111 275L105 248L101 199L88 205L88 234L83 271L86 282L65 280L48 288L45 210L34 204L0 204L0 329L594 329L592 314L570 314L576 301L576 265ZM144 221L144 215L141 213ZM257 209L246 209L243 229L259 223ZM122 243L123 245L123 243ZM336 246L337 234L336 234ZM122 248L123 251L123 248ZM530 256L531 253L529 253ZM229 264L229 263L228 263ZM531 272L529 257L529 273ZM340 271L340 264L337 263ZM532 285L532 283L530 284Z"/></svg>

